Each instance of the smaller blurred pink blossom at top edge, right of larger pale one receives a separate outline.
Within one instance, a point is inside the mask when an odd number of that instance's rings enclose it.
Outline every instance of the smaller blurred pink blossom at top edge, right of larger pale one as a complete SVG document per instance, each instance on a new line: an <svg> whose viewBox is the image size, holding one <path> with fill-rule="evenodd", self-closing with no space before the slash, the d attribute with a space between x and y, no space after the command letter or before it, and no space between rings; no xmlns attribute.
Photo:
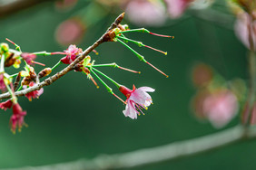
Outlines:
<svg viewBox="0 0 256 170"><path fill-rule="evenodd" d="M182 16L185 9L192 2L192 0L165 0L168 13L171 18L178 18Z"/></svg>

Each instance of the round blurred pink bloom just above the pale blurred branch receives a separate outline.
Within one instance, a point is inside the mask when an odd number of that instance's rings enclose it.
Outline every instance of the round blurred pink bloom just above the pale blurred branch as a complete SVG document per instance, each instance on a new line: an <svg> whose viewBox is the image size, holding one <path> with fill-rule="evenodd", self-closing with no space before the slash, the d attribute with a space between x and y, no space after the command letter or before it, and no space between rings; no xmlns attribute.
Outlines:
<svg viewBox="0 0 256 170"><path fill-rule="evenodd" d="M218 90L211 93L202 102L203 113L213 127L224 127L238 111L236 96L230 90Z"/></svg>

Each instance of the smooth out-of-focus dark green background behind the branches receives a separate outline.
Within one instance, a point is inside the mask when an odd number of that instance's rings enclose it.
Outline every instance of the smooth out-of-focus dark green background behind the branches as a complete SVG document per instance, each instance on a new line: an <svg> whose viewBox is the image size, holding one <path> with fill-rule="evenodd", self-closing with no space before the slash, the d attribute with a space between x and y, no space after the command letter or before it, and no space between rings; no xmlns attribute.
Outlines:
<svg viewBox="0 0 256 170"><path fill-rule="evenodd" d="M5 42L7 37L21 45L24 52L63 51L66 47L55 42L54 29L83 5L86 4L80 3L68 13L59 13L54 10L53 3L45 3L1 18L0 40ZM91 45L115 17L116 14L109 14L101 23L87 30L79 46L85 49ZM135 25L130 24L130 27ZM32 102L19 99L22 108L27 110L25 122L29 125L21 133L13 135L10 132L11 110L1 111L0 168L48 165L100 154L129 152L218 131L208 123L198 122L190 111L190 101L195 93L190 80L192 65L203 61L211 64L227 80L235 77L247 79L246 49L233 31L196 18L148 29L175 36L170 41L148 34L130 33L131 37L168 52L164 56L133 46L148 61L170 74L168 79L138 61L132 52L118 43L104 43L97 48L100 55L92 54L96 63L116 62L143 72L137 75L113 68L101 69L127 87L132 88L135 84L155 89L152 93L154 104L145 116L137 120L125 118L123 104L108 94L102 85L97 90L80 72L69 72L53 85L45 87L40 99ZM49 67L59 59L60 56L38 57L38 61ZM41 66L35 68L36 71L41 69ZM113 90L122 96L114 87ZM235 118L228 127L238 122L239 118ZM134 169L253 169L256 166L255 146L256 142L251 140L199 156Z"/></svg>

